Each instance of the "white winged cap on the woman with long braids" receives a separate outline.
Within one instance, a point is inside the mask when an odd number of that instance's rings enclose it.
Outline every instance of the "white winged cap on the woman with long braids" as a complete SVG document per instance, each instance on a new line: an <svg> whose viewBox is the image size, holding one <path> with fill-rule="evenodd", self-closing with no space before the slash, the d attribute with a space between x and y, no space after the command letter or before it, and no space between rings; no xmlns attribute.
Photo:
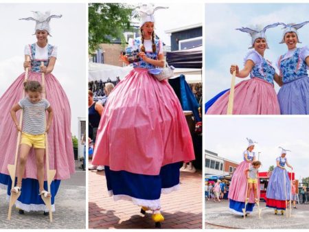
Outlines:
<svg viewBox="0 0 309 232"><path fill-rule="evenodd" d="M155 5L152 3L142 3L137 6L135 10L133 10L133 17L137 14L140 18L140 24L139 26L142 27L144 23L146 22L152 22L155 23L155 11L160 9L168 9L167 7L163 6L157 6L155 8Z"/></svg>

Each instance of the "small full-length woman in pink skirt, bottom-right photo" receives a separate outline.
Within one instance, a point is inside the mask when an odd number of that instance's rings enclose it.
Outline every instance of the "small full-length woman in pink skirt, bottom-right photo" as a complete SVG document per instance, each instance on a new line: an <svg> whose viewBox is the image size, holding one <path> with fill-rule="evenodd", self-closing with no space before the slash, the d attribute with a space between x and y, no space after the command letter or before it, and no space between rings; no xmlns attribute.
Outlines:
<svg viewBox="0 0 309 232"><path fill-rule="evenodd" d="M236 171L233 173L231 179L231 184L229 185L229 209L237 215L244 216L248 213L252 213L253 207L255 205L254 192L248 196L247 200L247 189L248 189L248 179L244 174L245 170L248 170L251 163L255 161L254 142L252 139L248 139L247 150L243 152L244 161L238 165ZM258 191L260 191L260 183L258 184ZM257 194L260 196L260 193Z"/></svg>

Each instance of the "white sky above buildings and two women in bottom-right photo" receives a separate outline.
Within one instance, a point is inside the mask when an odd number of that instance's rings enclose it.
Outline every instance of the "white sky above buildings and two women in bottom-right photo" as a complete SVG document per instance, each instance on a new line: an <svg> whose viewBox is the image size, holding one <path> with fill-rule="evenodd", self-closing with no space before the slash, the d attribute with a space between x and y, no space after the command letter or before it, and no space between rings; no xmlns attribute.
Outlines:
<svg viewBox="0 0 309 232"><path fill-rule="evenodd" d="M242 152L248 146L246 138L249 138L258 142L253 151L256 155L261 152L260 172L276 165L281 146L291 150L286 158L296 178L309 176L309 117L207 117L204 126L205 149L218 156L242 162Z"/></svg>

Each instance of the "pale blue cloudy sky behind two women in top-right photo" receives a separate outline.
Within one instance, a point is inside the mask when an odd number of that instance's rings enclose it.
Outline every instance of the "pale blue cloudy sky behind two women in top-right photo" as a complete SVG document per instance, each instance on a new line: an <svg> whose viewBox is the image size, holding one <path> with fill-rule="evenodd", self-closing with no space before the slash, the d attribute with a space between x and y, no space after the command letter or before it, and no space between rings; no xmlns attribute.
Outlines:
<svg viewBox="0 0 309 232"><path fill-rule="evenodd" d="M297 12L297 13L296 13ZM205 5L205 100L220 91L229 89L231 74L229 67L236 64L243 68L244 56L251 46L249 34L236 31L240 27L264 27L271 23L301 23L309 20L309 4L306 3L207 3ZM309 24L299 29L301 44L309 45ZM266 31L267 43L264 58L275 63L287 51L282 40L282 25ZM241 80L236 78L236 84ZM279 86L275 84L275 91Z"/></svg>

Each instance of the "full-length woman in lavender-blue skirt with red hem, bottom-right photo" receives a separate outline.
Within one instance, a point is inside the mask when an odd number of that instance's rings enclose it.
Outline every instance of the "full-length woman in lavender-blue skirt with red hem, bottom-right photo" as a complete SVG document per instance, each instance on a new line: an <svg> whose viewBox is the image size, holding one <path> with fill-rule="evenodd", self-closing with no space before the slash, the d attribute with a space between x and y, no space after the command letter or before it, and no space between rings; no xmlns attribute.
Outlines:
<svg viewBox="0 0 309 232"><path fill-rule="evenodd" d="M275 209L275 214L280 210L282 215L287 208L287 201L290 200L290 178L284 166L293 170L286 159L286 152L290 150L282 148L281 156L276 159L277 166L271 172L266 190L266 207Z"/></svg>

